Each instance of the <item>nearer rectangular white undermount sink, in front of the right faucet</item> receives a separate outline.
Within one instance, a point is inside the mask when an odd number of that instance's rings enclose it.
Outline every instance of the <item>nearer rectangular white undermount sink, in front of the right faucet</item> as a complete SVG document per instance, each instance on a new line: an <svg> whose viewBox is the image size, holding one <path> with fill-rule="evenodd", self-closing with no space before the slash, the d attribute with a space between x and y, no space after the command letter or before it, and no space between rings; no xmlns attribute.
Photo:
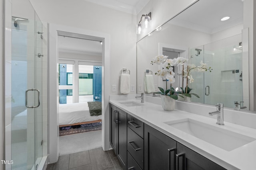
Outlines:
<svg viewBox="0 0 256 170"><path fill-rule="evenodd" d="M256 140L252 137L189 118L164 123L227 151L242 147Z"/></svg>

